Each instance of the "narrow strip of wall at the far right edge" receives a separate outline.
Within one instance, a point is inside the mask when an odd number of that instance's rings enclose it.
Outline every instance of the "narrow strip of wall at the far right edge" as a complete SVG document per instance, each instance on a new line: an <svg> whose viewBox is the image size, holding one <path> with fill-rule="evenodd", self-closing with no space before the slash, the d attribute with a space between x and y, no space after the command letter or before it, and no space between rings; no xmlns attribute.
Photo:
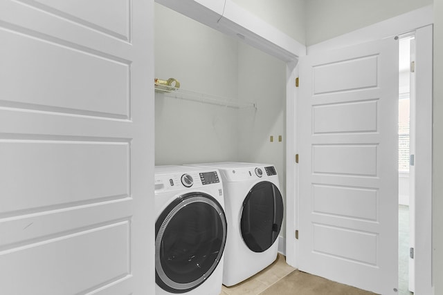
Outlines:
<svg viewBox="0 0 443 295"><path fill-rule="evenodd" d="M443 0L434 0L433 282L443 294Z"/></svg>

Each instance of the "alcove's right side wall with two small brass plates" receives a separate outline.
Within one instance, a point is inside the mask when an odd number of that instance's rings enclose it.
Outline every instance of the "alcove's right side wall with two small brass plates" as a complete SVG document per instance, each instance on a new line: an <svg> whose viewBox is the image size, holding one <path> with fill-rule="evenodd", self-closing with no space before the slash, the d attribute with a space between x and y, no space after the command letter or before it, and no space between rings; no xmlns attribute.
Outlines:
<svg viewBox="0 0 443 295"><path fill-rule="evenodd" d="M239 43L238 48L238 97L257 103L256 111L239 112L239 160L274 164L286 207L286 63L246 44ZM285 236L283 220L280 236Z"/></svg>

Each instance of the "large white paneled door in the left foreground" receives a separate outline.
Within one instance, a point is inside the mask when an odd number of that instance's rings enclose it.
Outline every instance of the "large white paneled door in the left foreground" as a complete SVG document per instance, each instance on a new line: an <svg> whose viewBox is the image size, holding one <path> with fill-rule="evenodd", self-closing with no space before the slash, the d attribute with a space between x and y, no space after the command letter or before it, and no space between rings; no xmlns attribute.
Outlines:
<svg viewBox="0 0 443 295"><path fill-rule="evenodd" d="M152 6L0 0L1 294L154 293Z"/></svg>

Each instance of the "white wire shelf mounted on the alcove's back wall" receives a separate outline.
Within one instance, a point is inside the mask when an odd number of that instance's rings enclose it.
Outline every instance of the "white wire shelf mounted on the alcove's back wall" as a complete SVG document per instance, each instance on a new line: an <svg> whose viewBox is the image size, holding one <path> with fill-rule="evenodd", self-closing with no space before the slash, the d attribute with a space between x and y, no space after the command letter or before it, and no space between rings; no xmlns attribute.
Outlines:
<svg viewBox="0 0 443 295"><path fill-rule="evenodd" d="M218 106L227 106L229 108L257 108L254 102L239 102L228 97L199 93L197 91L189 91L162 84L155 84L155 92L161 93L165 97L204 102L206 104L216 104Z"/></svg>

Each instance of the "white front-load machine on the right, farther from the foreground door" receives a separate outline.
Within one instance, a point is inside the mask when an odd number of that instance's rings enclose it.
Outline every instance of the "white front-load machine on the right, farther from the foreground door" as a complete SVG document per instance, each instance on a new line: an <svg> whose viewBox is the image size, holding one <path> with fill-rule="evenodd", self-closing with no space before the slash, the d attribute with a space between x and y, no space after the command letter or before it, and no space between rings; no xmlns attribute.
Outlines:
<svg viewBox="0 0 443 295"><path fill-rule="evenodd" d="M223 284L232 286L273 263L283 220L283 200L272 164L194 164L218 169L224 187L228 238Z"/></svg>

